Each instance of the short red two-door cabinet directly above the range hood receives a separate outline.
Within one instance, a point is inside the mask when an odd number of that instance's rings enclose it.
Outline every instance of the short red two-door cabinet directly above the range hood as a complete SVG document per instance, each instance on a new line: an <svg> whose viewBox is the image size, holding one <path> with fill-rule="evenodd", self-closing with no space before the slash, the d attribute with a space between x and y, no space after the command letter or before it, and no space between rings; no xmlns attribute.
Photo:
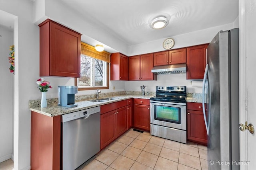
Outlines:
<svg viewBox="0 0 256 170"><path fill-rule="evenodd" d="M186 48L154 53L154 66L186 63Z"/></svg>

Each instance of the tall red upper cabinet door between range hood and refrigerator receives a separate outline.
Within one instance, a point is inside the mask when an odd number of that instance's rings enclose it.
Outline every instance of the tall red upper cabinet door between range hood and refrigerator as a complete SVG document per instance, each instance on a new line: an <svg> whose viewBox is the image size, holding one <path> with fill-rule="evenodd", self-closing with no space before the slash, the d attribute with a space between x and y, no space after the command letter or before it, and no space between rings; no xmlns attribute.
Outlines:
<svg viewBox="0 0 256 170"><path fill-rule="evenodd" d="M207 45L187 48L187 79L203 79L206 65Z"/></svg>

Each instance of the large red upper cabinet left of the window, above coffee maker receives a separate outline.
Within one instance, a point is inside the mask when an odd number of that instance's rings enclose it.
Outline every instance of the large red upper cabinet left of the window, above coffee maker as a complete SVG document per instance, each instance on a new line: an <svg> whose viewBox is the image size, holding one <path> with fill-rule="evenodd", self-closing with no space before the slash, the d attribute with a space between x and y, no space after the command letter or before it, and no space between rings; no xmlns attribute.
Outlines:
<svg viewBox="0 0 256 170"><path fill-rule="evenodd" d="M80 77L81 35L52 20L40 27L40 76Z"/></svg>

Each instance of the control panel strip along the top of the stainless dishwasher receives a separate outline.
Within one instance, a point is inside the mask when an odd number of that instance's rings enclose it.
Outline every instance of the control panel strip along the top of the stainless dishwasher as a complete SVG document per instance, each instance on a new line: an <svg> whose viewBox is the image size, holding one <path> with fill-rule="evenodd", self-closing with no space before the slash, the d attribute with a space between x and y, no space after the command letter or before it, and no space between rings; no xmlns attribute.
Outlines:
<svg viewBox="0 0 256 170"><path fill-rule="evenodd" d="M68 114L64 114L61 116L61 122L64 123L66 121L71 121L74 119L79 119L79 118L87 118L89 117L91 114L94 113L98 113L100 112L100 107L92 107L90 109L84 109L84 110L80 110L80 111L75 111L72 113L68 113Z"/></svg>

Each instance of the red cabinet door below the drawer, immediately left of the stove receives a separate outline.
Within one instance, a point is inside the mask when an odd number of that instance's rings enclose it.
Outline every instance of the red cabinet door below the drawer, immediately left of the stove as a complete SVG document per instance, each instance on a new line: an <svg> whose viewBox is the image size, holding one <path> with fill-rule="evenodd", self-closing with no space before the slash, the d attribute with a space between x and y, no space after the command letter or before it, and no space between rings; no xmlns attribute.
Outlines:
<svg viewBox="0 0 256 170"><path fill-rule="evenodd" d="M150 106L134 105L134 127L150 131Z"/></svg>

